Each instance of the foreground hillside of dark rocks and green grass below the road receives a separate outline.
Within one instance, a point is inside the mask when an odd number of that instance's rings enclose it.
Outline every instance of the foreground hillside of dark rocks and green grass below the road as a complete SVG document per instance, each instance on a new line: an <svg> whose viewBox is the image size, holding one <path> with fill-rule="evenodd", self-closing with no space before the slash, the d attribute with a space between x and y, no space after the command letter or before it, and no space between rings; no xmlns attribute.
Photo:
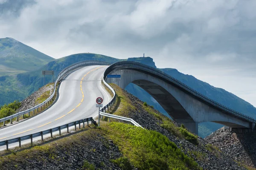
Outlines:
<svg viewBox="0 0 256 170"><path fill-rule="evenodd" d="M63 139L2 154L0 169L31 170L246 170L218 147L190 133L137 97L112 85L117 102L109 111L144 127L105 118Z"/></svg>

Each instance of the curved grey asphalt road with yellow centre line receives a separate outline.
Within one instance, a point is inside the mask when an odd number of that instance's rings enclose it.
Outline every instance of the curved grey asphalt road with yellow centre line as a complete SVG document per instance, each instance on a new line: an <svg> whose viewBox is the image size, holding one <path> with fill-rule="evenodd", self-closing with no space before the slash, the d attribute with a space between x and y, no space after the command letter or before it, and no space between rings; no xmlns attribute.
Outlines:
<svg viewBox="0 0 256 170"><path fill-rule="evenodd" d="M0 129L0 141L97 116L99 110L95 107L96 98L103 97L103 105L111 100L101 83L107 67L87 66L71 73L61 82L58 100L52 107L23 122Z"/></svg>

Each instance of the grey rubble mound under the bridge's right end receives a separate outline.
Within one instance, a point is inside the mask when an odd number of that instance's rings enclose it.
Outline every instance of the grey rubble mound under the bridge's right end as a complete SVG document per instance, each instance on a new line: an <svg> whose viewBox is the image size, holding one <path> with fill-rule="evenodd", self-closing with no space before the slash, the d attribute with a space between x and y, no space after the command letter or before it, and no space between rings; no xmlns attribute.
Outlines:
<svg viewBox="0 0 256 170"><path fill-rule="evenodd" d="M256 132L235 133L221 128L205 138L236 161L256 168Z"/></svg>

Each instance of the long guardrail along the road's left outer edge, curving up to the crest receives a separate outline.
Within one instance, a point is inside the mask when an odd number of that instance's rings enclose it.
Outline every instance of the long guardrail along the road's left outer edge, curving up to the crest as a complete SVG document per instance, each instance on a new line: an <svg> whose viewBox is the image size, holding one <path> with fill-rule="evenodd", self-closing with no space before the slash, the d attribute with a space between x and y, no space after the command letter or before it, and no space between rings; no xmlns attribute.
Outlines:
<svg viewBox="0 0 256 170"><path fill-rule="evenodd" d="M81 61L81 62L76 62L66 68L64 68L59 74L58 74L58 77L57 79L55 80L55 83L54 83L54 90L52 92L52 95L49 96L48 99L46 99L44 102L42 102L41 104L39 105L36 105L35 107L33 108L30 108L26 111L21 111L19 113L15 113L11 116L7 116L5 118L2 118L0 119L0 122L3 122L3 124L5 125L5 121L7 120L10 120L10 122L12 123L12 119L14 118L18 118L18 116L22 116L26 113L30 113L32 111L35 111L37 110L38 108L41 108L42 106L44 105L47 105L49 102L51 102L55 92L56 92L56 85L59 81L61 81L62 78L64 78L65 76L67 76L68 74L70 74L71 72L79 69L79 68L82 68L82 67L85 67L85 66L90 66L90 65L111 65L110 62L104 62L104 61L97 61L97 60L85 60L85 61ZM18 120L18 119L17 119Z"/></svg>

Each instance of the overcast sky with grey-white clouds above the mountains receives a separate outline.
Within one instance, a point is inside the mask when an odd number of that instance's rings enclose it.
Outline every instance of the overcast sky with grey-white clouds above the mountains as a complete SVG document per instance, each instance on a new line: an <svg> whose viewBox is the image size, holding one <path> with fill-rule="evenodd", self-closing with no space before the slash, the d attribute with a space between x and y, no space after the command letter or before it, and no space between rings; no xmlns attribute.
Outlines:
<svg viewBox="0 0 256 170"><path fill-rule="evenodd" d="M256 106L256 0L0 0L0 37L54 58L145 53Z"/></svg>

